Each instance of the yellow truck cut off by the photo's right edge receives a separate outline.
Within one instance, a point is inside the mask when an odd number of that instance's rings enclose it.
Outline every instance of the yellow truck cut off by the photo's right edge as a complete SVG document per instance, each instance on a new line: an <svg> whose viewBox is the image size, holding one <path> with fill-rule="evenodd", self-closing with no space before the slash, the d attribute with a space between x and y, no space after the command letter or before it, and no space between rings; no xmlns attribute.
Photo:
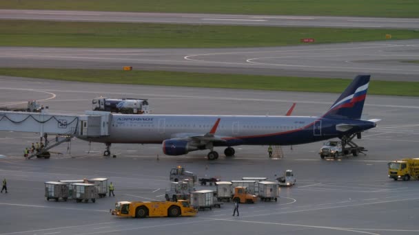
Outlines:
<svg viewBox="0 0 419 235"><path fill-rule="evenodd" d="M419 158L404 158L388 163L389 178L403 181L419 179Z"/></svg>

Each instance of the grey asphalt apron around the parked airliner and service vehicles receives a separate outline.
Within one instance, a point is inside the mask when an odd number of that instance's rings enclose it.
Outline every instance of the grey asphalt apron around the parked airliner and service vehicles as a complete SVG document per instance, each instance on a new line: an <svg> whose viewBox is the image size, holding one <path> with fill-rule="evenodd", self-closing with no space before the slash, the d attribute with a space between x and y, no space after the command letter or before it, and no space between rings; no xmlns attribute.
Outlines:
<svg viewBox="0 0 419 235"><path fill-rule="evenodd" d="M374 80L374 74L372 78ZM320 115L338 94L243 91L105 85L0 76L0 106L37 99L50 111L82 113L96 96L149 98L154 113ZM322 143L283 146L283 159L268 159L266 146L238 146L236 157L207 161L207 151L164 156L160 145L112 145L116 158L103 157L103 144L73 139L52 150L49 160L22 157L36 133L0 133L0 234L418 234L416 181L387 179L387 161L417 157L418 98L367 96L364 118L381 118L378 127L356 140L369 151L358 157L321 160ZM216 149L219 153L223 148ZM58 155L57 153L62 153ZM157 160L159 155L159 160ZM282 188L280 200L232 203L191 218L120 219L109 209L116 201L160 200L170 168L182 165L203 176L223 180L269 177L294 170L297 184ZM108 177L116 197L96 203L46 201L43 182ZM201 186L197 186L201 188ZM207 187L211 188L211 187Z"/></svg>

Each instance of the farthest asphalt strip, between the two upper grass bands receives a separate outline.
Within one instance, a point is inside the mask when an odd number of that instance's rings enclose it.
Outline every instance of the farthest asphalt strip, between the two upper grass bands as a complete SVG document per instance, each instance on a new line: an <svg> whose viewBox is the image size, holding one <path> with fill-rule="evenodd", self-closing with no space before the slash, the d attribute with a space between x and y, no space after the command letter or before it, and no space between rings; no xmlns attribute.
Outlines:
<svg viewBox="0 0 419 235"><path fill-rule="evenodd" d="M205 25L258 25L285 27L356 27L419 29L419 19L331 17L331 16L272 16L241 14L186 14L146 12L88 12L65 10L0 10L0 19L47 21L94 21L130 23L181 23Z"/></svg>

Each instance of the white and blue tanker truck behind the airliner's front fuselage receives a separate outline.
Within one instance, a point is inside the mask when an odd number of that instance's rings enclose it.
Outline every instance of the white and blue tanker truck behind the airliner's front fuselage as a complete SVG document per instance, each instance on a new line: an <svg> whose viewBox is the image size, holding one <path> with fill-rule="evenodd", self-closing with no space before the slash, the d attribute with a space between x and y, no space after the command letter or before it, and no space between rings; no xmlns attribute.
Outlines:
<svg viewBox="0 0 419 235"><path fill-rule="evenodd" d="M150 113L147 100L136 98L110 99L97 97L92 100L92 110L112 113L143 114Z"/></svg>

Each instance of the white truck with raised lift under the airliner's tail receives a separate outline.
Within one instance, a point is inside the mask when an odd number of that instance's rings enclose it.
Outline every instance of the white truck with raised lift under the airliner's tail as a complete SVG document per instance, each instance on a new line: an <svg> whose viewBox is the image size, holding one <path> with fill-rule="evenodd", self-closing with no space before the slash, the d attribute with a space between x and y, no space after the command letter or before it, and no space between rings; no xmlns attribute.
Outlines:
<svg viewBox="0 0 419 235"><path fill-rule="evenodd" d="M318 154L322 159L325 157L333 157L336 159L339 156L345 156L352 154L354 157L357 157L360 153L366 155L365 151L367 151L364 147L358 146L354 142L351 141L355 137L356 134L351 135L349 138L343 137L341 141L329 141L325 142Z"/></svg>

